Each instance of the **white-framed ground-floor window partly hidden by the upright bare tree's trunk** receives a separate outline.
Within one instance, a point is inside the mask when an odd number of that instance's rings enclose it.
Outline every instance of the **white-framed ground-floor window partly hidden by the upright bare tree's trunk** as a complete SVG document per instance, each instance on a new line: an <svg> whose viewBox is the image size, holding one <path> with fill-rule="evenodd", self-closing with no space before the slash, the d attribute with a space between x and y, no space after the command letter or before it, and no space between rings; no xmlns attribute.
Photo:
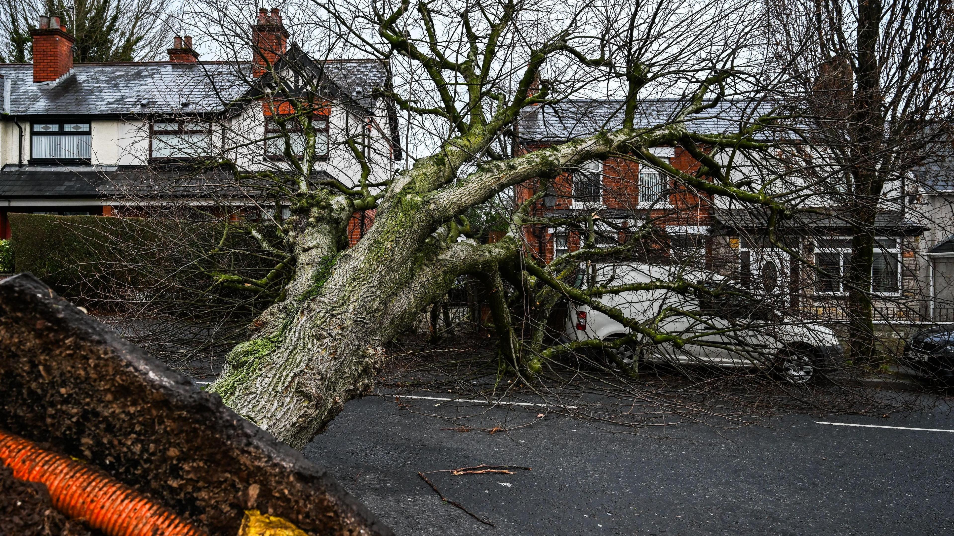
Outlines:
<svg viewBox="0 0 954 536"><path fill-rule="evenodd" d="M816 291L840 294L848 292L843 282L851 258L851 238L819 237L815 241ZM901 288L901 248L897 238L875 238L871 265L871 291L897 294Z"/></svg>

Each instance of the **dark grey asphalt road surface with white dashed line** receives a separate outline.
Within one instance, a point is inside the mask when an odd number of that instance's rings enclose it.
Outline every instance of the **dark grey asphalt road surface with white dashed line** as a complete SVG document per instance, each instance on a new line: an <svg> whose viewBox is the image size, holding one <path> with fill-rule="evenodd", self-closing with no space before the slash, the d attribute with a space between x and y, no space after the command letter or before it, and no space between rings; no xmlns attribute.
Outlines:
<svg viewBox="0 0 954 536"><path fill-rule="evenodd" d="M415 411L393 398L348 402L303 450L400 535L954 534L954 416L940 411L792 415L734 430L694 424L641 434L550 415L491 435L442 429L455 424L420 413L481 404L403 402ZM512 426L536 421L539 411L491 409L470 425ZM443 503L417 474L478 464L532 467L428 475L492 527Z"/></svg>

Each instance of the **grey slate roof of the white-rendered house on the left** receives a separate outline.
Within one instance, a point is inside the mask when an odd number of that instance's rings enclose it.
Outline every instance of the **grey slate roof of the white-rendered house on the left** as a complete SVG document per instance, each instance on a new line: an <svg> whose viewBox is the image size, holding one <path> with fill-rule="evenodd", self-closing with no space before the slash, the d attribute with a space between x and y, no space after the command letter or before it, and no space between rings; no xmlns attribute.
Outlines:
<svg viewBox="0 0 954 536"><path fill-rule="evenodd" d="M316 63L349 95L366 99L384 87L378 60ZM31 64L0 64L0 76L10 80L8 113L15 115L213 113L249 91L250 71L247 62L88 63L48 87L33 84Z"/></svg>

